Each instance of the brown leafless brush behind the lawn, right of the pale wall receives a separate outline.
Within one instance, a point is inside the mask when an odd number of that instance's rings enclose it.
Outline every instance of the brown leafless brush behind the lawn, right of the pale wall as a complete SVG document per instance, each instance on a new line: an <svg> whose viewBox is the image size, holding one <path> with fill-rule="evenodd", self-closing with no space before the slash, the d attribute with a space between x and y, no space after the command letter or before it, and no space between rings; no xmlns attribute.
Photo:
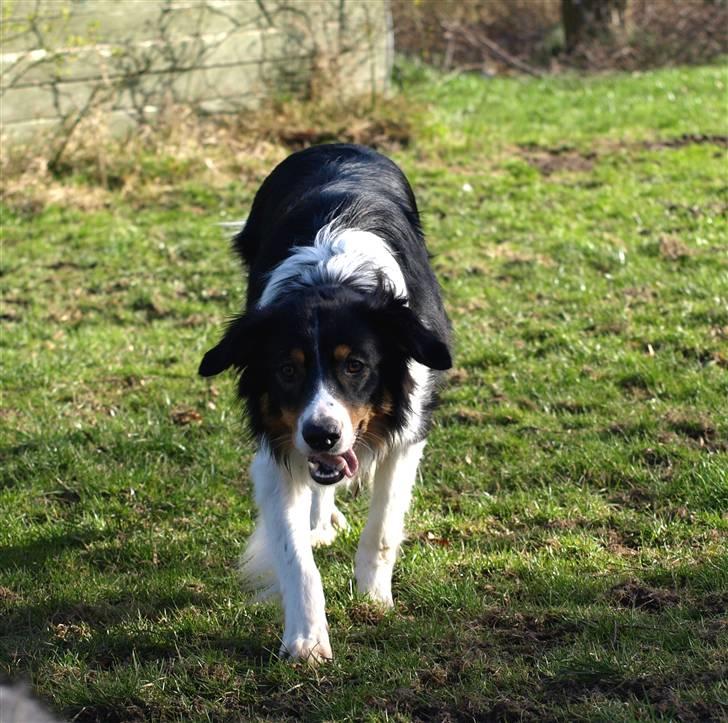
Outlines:
<svg viewBox="0 0 728 723"><path fill-rule="evenodd" d="M728 53L724 0L626 0L615 32L567 52L561 0L392 0L395 45L440 68L636 70Z"/></svg>

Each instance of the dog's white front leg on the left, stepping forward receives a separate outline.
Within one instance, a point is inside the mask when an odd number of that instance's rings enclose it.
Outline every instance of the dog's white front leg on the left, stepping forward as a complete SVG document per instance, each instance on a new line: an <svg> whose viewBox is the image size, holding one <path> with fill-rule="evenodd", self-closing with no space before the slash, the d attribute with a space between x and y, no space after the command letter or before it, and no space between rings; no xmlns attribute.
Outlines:
<svg viewBox="0 0 728 723"><path fill-rule="evenodd" d="M261 449L251 467L268 552L281 593L285 628L281 655L331 658L321 575L311 550L311 489Z"/></svg>

